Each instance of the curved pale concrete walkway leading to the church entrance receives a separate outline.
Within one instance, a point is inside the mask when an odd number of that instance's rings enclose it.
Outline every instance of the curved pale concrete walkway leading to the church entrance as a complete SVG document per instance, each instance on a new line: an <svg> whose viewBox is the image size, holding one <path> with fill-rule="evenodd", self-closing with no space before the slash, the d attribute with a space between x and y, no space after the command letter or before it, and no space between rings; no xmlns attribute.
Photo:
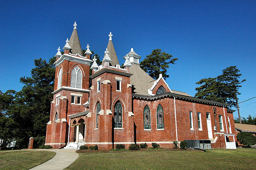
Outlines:
<svg viewBox="0 0 256 170"><path fill-rule="evenodd" d="M64 169L73 163L79 156L79 154L76 153L76 150L50 149L44 151L52 151L55 152L56 155L49 161L37 165L31 169Z"/></svg>

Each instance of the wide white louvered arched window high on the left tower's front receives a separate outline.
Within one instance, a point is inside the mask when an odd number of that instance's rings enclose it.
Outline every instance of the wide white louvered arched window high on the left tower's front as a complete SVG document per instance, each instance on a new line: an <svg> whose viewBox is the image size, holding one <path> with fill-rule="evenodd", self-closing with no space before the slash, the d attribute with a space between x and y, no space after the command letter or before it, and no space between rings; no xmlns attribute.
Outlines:
<svg viewBox="0 0 256 170"><path fill-rule="evenodd" d="M70 87L82 88L82 71L78 66L75 66L71 71Z"/></svg>

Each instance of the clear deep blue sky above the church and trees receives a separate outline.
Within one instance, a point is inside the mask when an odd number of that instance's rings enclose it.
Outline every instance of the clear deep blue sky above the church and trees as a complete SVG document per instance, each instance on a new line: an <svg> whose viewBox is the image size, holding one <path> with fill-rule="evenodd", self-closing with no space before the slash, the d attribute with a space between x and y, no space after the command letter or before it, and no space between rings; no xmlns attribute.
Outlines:
<svg viewBox="0 0 256 170"><path fill-rule="evenodd" d="M229 66L242 74L239 100L256 96L256 1L0 1L0 90L19 91L34 59L49 60L65 45L74 21L82 49L100 55L109 33L120 64L134 48L143 60L160 48L178 61L166 81L195 95L196 82ZM63 50L61 50L63 51ZM256 98L241 103L241 116L256 116ZM233 108L236 109L236 108ZM238 112L234 112L238 117Z"/></svg>

